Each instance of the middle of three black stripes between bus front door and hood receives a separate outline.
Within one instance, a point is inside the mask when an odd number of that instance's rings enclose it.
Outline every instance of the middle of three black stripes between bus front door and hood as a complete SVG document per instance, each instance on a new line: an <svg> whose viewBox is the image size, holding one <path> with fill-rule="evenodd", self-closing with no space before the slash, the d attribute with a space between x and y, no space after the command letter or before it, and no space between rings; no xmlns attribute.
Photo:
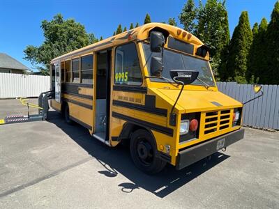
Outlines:
<svg viewBox="0 0 279 209"><path fill-rule="evenodd" d="M113 100L112 104L115 106L126 107L129 109L135 109L135 110L144 111L144 112L148 112L151 114L156 114L159 116L167 117L167 109L161 109L161 108L156 108L156 107L147 107L146 105L134 104L134 103L130 103L130 102L123 102L123 101L119 101L119 100Z"/></svg>

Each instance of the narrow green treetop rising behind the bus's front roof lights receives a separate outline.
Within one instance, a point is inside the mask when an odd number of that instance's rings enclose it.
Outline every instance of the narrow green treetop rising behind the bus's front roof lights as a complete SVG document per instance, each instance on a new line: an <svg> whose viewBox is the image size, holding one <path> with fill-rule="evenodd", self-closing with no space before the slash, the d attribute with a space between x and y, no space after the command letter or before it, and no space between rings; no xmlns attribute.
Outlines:
<svg viewBox="0 0 279 209"><path fill-rule="evenodd" d="M194 0L188 0L179 15L180 23L183 24L183 29L195 33L197 28L197 8L195 8Z"/></svg>

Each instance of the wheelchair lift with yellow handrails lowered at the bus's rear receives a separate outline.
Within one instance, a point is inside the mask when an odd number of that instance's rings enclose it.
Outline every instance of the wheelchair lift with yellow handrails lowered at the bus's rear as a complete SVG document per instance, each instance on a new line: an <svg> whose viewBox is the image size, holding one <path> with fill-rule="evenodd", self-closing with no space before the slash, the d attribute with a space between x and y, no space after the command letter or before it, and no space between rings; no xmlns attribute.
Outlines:
<svg viewBox="0 0 279 209"><path fill-rule="evenodd" d="M5 118L0 118L0 125L3 124L10 124L10 123L24 123L24 122L31 122L31 121L45 121L47 119L48 114L48 100L52 99L54 97L53 91L46 91L43 93L40 93L38 97L38 104L33 104L27 102L27 99L20 98L20 102L22 105L27 106L28 115L15 115L15 116L6 116ZM30 115L29 114L29 108L36 108L38 109L38 114L36 115Z"/></svg>

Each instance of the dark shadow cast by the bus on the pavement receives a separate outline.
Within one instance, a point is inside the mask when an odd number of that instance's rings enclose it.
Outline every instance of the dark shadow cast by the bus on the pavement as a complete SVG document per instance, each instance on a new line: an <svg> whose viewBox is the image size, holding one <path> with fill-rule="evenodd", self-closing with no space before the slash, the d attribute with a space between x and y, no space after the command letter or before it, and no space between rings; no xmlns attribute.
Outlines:
<svg viewBox="0 0 279 209"><path fill-rule="evenodd" d="M50 111L48 121L61 128L89 155L95 157L103 165L103 170L96 172L107 178L115 178L119 173L128 178L130 182L119 184L119 189L126 193L142 188L163 198L229 157L229 155L223 153L215 153L210 160L208 158L200 160L180 171L168 164L160 173L149 176L134 166L128 148L105 146L105 144L91 137L89 131L81 125L66 124L56 111Z"/></svg>

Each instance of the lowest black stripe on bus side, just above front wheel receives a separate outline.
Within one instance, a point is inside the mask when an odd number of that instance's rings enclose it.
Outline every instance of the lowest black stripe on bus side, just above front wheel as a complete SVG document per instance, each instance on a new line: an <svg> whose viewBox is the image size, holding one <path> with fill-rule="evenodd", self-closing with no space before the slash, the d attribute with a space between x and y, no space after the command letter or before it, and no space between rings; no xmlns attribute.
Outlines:
<svg viewBox="0 0 279 209"><path fill-rule="evenodd" d="M112 117L119 118L121 120L128 121L130 123L134 123L135 125L140 125L142 127L146 127L146 128L151 129L151 130L156 130L157 132L161 132L161 133L166 134L170 137L172 137L173 134L174 134L174 130L172 130L172 128L157 125L157 124L154 124L154 123L149 123L149 122L146 122L146 121L139 120L137 118L132 118L130 116L125 116L125 115L119 114L115 111L112 112Z"/></svg>

